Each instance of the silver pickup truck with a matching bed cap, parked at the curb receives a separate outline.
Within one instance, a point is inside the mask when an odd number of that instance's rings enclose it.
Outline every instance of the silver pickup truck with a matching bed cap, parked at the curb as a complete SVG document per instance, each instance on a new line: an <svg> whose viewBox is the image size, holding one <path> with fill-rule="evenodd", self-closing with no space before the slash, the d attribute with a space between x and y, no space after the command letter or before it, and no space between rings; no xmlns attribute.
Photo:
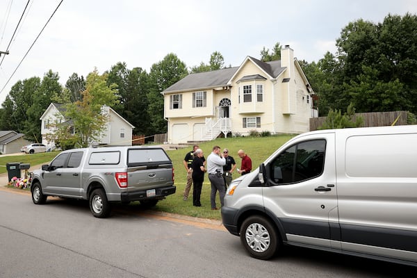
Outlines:
<svg viewBox="0 0 417 278"><path fill-rule="evenodd" d="M33 171L32 200L48 196L86 199L92 215L106 218L111 202L155 206L174 194L172 161L161 147L97 147L61 152Z"/></svg>

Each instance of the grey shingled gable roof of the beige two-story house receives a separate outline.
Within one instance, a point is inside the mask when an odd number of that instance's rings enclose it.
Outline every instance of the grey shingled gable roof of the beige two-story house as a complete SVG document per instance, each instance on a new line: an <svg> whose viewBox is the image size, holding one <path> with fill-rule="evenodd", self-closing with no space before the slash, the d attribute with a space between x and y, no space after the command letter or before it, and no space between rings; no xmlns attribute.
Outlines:
<svg viewBox="0 0 417 278"><path fill-rule="evenodd" d="M222 70L213 70L211 72L199 72L197 74L188 74L186 77L166 88L162 94L167 92L181 92L184 90L202 90L207 88L215 88L230 85L231 80L236 73L245 65L247 60L254 63L260 70L262 70L268 78L276 78L286 70L286 67L281 67L281 60L270 62L263 62L251 56L247 56L239 67L227 67ZM252 75L252 79L255 75ZM261 78L265 77L259 75Z"/></svg>

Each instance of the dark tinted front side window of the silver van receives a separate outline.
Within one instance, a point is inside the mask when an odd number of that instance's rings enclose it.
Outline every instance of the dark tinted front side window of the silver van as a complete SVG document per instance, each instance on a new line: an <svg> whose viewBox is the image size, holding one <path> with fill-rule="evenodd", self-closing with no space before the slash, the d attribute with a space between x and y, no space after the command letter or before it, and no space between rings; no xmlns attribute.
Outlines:
<svg viewBox="0 0 417 278"><path fill-rule="evenodd" d="M325 165L326 140L300 142L281 152L271 163L273 183L295 183L322 174Z"/></svg>

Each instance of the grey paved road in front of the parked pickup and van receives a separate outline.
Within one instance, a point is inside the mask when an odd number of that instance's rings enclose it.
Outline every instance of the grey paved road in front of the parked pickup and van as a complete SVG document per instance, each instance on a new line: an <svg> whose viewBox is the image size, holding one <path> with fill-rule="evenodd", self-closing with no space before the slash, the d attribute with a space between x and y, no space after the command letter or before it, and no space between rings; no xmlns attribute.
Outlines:
<svg viewBox="0 0 417 278"><path fill-rule="evenodd" d="M414 268L286 248L260 261L218 222L152 215L116 206L92 217L86 202L0 187L0 277L400 277Z"/></svg>

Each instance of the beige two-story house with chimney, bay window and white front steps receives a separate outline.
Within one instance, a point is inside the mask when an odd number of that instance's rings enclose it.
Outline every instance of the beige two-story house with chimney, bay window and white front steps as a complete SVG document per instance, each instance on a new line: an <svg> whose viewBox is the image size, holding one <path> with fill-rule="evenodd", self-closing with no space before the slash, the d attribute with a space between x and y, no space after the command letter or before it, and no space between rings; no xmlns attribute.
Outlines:
<svg viewBox="0 0 417 278"><path fill-rule="evenodd" d="M162 92L169 143L309 131L313 90L288 45L281 60L189 74Z"/></svg>

